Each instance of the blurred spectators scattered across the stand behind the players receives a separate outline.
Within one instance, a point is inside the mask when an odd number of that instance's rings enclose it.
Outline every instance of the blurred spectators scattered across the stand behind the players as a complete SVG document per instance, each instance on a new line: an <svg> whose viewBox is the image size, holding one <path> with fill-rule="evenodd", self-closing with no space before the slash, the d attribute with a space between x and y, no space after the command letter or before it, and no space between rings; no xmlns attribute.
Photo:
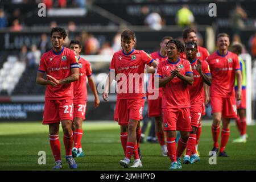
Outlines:
<svg viewBox="0 0 256 182"><path fill-rule="evenodd" d="M134 0L135 1L135 0ZM10 1L9 1L10 2ZM65 7L81 7L84 8L88 3L95 2L95 0L11 0L11 3L30 3L43 2L46 4L47 9L51 8L65 8ZM135 2L156 2L156 1L135 1ZM167 2L167 1L162 1ZM241 32L246 28L245 20L248 15L243 10L241 5L237 5L229 16L230 26L233 30L232 43L241 43ZM22 28L26 26L24 24L24 15L20 9L17 8L12 14L6 14L5 10L0 7L0 30L1 28L9 27L12 32L20 32ZM176 13L175 23L180 27L195 27L196 19L188 5L183 5ZM149 29L154 31L160 31L166 26L166 19L161 12L151 11L147 5L141 7L141 16L138 18L138 24L147 26ZM49 28L63 26L53 21L49 24ZM121 46L120 33L118 32L112 42L102 39L96 35L89 34L88 32L82 31L77 32L77 25L73 21L69 21L67 25L68 37L64 42L64 46L69 46L70 40L79 40L82 42L81 55L113 55L115 51L118 51ZM200 32L197 33L199 36L199 45L203 45L203 38ZM20 50L20 60L26 61L28 65L34 65L39 63L40 56L51 48L51 42L49 35L42 34L40 36L40 43L32 44L29 47L23 46ZM182 41L182 39L181 39ZM251 35L246 45L250 49L246 51L243 49L243 53L251 53L253 58L256 58L256 32ZM245 47L245 46L244 46Z"/></svg>

